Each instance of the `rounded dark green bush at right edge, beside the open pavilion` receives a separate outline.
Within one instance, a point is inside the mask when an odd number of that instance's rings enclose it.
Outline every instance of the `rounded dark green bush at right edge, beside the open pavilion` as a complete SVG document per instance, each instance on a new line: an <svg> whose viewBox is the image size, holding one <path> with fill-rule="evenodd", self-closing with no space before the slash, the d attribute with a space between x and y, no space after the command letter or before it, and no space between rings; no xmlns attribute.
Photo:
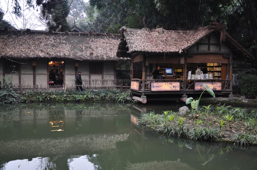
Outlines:
<svg viewBox="0 0 257 170"><path fill-rule="evenodd" d="M239 89L241 94L248 99L257 98L257 75L241 74L239 75Z"/></svg>

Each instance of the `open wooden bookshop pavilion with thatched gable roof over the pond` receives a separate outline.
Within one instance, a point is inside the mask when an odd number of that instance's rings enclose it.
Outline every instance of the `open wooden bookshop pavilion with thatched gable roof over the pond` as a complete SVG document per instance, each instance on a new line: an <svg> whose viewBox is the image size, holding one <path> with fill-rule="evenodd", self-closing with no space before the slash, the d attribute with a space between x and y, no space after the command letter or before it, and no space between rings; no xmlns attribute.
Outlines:
<svg viewBox="0 0 257 170"><path fill-rule="evenodd" d="M184 99L201 93L204 83L232 96L232 59L253 58L218 23L183 31L122 27L120 35L117 57L131 58L131 91L141 99ZM193 76L198 65L205 76ZM157 66L161 79L152 79Z"/></svg>

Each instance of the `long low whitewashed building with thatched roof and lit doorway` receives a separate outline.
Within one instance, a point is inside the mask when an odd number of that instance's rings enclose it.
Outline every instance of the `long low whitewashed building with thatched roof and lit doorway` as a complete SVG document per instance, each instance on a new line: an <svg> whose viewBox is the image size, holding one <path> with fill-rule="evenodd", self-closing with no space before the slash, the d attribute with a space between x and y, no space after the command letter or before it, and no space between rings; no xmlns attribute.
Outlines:
<svg viewBox="0 0 257 170"><path fill-rule="evenodd" d="M0 77L19 85L74 85L84 79L116 79L119 35L0 30ZM0 80L2 81L2 80Z"/></svg>

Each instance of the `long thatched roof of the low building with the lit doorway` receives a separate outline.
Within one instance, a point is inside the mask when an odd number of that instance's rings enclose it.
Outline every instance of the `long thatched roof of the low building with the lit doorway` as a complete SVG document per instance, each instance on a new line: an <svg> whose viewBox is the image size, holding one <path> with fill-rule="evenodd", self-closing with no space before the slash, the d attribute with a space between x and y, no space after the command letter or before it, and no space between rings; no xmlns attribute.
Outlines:
<svg viewBox="0 0 257 170"><path fill-rule="evenodd" d="M0 57L119 60L119 35L78 32L0 31Z"/></svg>

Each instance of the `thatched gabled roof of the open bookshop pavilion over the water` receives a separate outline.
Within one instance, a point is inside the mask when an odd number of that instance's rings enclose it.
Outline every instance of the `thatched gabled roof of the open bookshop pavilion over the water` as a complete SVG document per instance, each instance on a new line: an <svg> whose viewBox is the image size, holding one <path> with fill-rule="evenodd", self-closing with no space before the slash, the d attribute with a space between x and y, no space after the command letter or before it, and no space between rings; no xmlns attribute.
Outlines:
<svg viewBox="0 0 257 170"><path fill-rule="evenodd" d="M209 26L199 27L195 30L178 31L162 28L154 30L129 29L123 26L120 29L121 40L117 56L127 57L126 53L133 52L180 54L211 32L218 32L221 35L221 41L225 41L230 48L237 50L234 53L244 57L252 57L244 47L228 35L224 26L218 23L210 23Z"/></svg>

